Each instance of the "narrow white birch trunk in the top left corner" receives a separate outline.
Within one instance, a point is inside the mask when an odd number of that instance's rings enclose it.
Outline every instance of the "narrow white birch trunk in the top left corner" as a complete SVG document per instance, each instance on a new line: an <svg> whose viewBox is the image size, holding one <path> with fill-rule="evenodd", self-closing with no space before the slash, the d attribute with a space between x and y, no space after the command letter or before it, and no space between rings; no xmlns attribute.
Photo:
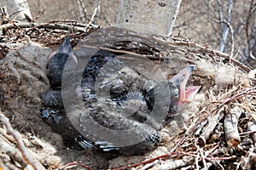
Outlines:
<svg viewBox="0 0 256 170"><path fill-rule="evenodd" d="M1 0L1 5L7 8L9 20L28 22L26 16L32 19L32 14L26 0Z"/></svg>

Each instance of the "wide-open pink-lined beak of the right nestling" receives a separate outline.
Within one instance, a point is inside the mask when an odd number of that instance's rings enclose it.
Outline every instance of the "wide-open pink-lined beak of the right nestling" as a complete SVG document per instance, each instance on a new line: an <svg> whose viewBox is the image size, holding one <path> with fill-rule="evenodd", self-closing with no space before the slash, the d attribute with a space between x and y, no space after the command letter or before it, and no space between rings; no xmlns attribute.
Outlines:
<svg viewBox="0 0 256 170"><path fill-rule="evenodd" d="M191 102L195 94L200 90L201 86L190 86L186 87L191 72L194 70L194 65L189 65L172 78L172 82L180 88L179 102Z"/></svg>

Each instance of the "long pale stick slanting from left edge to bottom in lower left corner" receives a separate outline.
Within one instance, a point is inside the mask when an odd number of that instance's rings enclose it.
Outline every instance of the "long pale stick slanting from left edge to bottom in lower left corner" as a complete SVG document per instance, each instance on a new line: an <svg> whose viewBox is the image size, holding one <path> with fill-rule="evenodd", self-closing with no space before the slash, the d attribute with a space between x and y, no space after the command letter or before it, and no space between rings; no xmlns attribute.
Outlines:
<svg viewBox="0 0 256 170"><path fill-rule="evenodd" d="M31 156L31 152L30 150L26 149L25 145L22 142L22 139L20 138L20 134L13 129L13 127L9 123L9 119L3 115L2 111L0 111L0 119L3 122L3 125L6 127L7 133L14 137L26 162L30 164L34 169L45 169L38 160Z"/></svg>

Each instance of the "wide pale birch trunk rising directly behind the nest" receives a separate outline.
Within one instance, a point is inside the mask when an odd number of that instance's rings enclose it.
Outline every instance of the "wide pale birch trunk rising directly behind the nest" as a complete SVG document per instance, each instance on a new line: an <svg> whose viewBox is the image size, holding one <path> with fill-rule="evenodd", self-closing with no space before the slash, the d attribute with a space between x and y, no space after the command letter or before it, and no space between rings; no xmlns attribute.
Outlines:
<svg viewBox="0 0 256 170"><path fill-rule="evenodd" d="M116 26L171 36L181 0L121 0Z"/></svg>

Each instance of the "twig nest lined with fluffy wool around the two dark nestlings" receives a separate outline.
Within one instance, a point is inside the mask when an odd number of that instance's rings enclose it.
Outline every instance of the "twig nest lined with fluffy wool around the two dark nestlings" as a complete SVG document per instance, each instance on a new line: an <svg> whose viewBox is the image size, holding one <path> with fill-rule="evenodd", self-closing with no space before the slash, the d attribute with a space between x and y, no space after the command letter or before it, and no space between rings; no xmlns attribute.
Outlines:
<svg viewBox="0 0 256 170"><path fill-rule="evenodd" d="M183 37L165 39L114 27L48 23L15 28L4 28L6 36L0 43L3 169L256 167L256 72L230 54ZM144 155L109 158L106 153L68 149L39 111L40 94L49 89L45 75L49 54L66 36L71 37L74 50L102 48L148 59L154 68L147 68L147 63L144 68L152 72L160 68L166 78L195 65L189 83L201 86L201 91L160 130L159 146Z"/></svg>

